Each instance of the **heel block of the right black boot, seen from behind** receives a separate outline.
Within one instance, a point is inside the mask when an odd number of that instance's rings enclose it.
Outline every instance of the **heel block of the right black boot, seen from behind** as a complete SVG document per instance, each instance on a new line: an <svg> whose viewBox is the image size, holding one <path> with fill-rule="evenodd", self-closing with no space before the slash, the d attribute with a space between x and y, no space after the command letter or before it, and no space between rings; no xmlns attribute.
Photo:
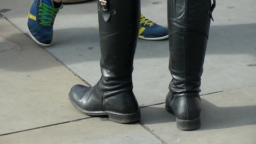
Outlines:
<svg viewBox="0 0 256 144"><path fill-rule="evenodd" d="M177 123L177 128L183 131L195 130L201 127L200 117L192 120L183 120L183 119L176 118L176 123Z"/></svg>

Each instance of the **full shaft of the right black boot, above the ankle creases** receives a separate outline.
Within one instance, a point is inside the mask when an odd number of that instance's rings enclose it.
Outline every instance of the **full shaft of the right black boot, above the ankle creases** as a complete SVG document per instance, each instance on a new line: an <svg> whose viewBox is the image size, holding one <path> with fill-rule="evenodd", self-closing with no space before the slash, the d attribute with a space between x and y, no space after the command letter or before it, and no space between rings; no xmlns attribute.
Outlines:
<svg viewBox="0 0 256 144"><path fill-rule="evenodd" d="M168 1L168 28L173 93L200 92L210 29L210 0Z"/></svg>

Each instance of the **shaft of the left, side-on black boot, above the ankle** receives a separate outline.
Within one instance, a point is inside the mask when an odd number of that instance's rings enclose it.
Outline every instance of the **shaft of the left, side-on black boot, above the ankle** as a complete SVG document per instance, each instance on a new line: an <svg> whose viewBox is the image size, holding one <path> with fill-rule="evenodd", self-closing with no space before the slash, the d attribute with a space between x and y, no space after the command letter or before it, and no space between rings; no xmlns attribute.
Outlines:
<svg viewBox="0 0 256 144"><path fill-rule="evenodd" d="M140 1L108 0L107 11L102 11L99 4L98 17L103 78L130 77L138 39Z"/></svg>

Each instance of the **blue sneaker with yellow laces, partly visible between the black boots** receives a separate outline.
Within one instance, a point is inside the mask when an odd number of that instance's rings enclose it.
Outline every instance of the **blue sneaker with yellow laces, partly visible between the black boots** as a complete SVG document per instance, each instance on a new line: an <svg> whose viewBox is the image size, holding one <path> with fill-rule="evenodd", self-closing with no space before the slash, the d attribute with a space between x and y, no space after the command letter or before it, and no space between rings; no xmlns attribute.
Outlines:
<svg viewBox="0 0 256 144"><path fill-rule="evenodd" d="M161 40L169 37L167 28L146 19L142 14L140 15L139 29L139 38L142 39Z"/></svg>

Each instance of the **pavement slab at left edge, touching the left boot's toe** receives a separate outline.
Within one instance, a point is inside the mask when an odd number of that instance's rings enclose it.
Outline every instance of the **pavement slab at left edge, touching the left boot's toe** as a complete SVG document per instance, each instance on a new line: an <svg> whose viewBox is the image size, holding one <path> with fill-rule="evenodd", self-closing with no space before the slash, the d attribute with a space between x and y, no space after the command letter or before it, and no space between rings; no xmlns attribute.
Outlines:
<svg viewBox="0 0 256 144"><path fill-rule="evenodd" d="M88 117L68 100L85 83L2 17L0 26L0 135Z"/></svg>

